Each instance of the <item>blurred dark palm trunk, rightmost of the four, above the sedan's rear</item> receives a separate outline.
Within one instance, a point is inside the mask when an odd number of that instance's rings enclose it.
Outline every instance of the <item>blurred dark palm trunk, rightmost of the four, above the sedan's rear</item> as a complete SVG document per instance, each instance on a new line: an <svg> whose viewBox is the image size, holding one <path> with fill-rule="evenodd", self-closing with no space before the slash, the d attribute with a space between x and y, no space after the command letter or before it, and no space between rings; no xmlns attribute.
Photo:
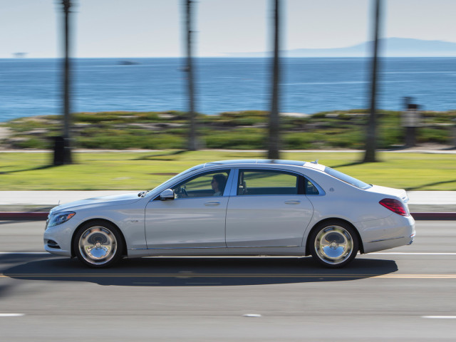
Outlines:
<svg viewBox="0 0 456 342"><path fill-rule="evenodd" d="M372 58L372 78L371 78L371 111L369 113L367 134L366 134L366 153L363 162L375 162L375 147L377 145L376 136L376 95L377 95L377 64L378 64L378 26L380 23L380 0L375 0L374 14L374 41Z"/></svg>

